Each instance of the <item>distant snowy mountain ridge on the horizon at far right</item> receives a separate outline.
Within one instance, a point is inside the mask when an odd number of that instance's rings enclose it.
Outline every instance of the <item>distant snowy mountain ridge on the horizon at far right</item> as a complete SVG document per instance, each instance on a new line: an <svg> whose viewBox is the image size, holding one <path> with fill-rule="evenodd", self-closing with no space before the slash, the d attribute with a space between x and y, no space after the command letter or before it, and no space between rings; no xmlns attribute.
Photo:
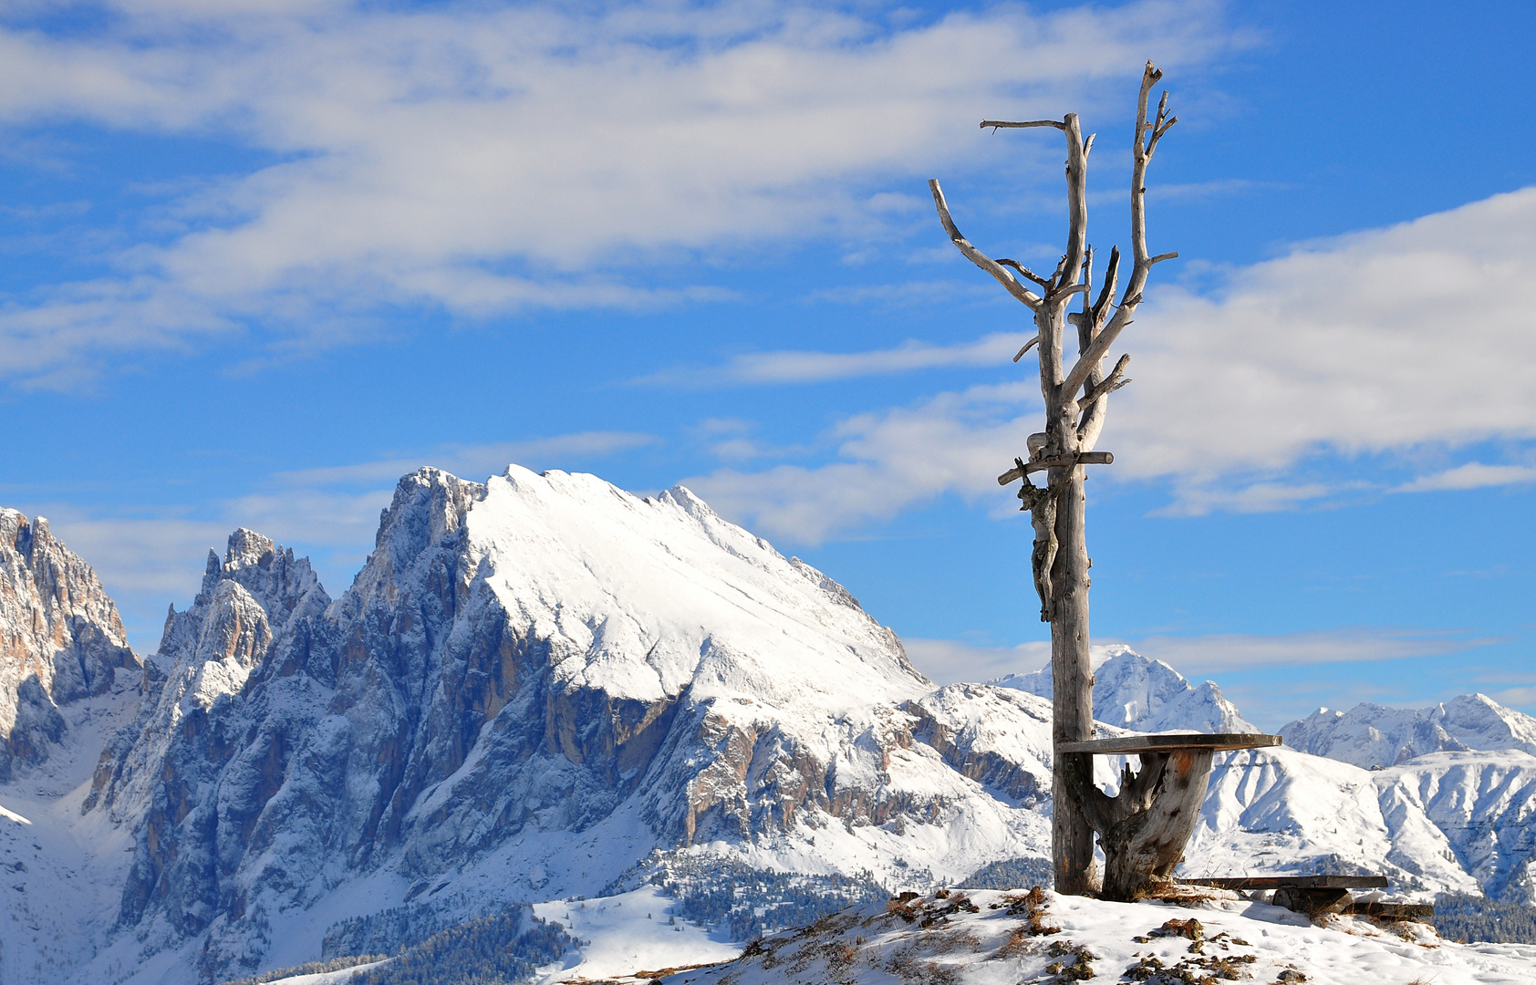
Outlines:
<svg viewBox="0 0 1536 985"><path fill-rule="evenodd" d="M1427 753L1518 748L1536 756L1536 718L1487 695L1462 695L1428 708L1358 704L1318 708L1281 727L1286 745L1358 767L1392 767Z"/></svg>

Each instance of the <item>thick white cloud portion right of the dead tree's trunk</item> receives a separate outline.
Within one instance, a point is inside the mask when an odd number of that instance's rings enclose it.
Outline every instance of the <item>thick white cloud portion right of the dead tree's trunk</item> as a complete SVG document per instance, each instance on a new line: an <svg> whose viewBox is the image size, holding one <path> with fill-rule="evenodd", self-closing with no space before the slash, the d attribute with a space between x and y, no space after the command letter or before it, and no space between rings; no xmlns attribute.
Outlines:
<svg viewBox="0 0 1536 985"><path fill-rule="evenodd" d="M1106 441L1135 476L1536 436L1536 187L1163 292ZM1106 446L1107 447L1107 446ZM1118 466L1117 466L1118 469Z"/></svg>

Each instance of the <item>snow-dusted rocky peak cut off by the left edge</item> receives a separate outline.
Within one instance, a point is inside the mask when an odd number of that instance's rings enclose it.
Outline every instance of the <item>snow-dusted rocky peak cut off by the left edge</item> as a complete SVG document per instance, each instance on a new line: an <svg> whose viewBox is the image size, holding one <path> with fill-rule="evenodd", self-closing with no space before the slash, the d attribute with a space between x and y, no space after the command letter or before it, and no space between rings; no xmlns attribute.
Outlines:
<svg viewBox="0 0 1536 985"><path fill-rule="evenodd" d="M60 705L104 693L124 667L138 658L91 565L41 516L0 509L0 784L48 759Z"/></svg>

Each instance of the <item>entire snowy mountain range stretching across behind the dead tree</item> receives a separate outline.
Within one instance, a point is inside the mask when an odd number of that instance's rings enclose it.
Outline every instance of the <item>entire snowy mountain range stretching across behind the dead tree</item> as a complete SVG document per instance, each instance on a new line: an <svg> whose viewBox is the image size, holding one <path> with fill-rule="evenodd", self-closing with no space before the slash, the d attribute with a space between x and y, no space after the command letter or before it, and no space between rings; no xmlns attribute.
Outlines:
<svg viewBox="0 0 1536 985"><path fill-rule="evenodd" d="M1104 656L1106 733L1255 731L1213 684ZM214 982L642 885L763 928L1040 873L1048 695L1049 672L934 685L682 487L424 469L339 598L237 530L143 659L89 565L6 510L0 980ZM1530 900L1536 722L1372 708L1224 756L1186 871Z"/></svg>

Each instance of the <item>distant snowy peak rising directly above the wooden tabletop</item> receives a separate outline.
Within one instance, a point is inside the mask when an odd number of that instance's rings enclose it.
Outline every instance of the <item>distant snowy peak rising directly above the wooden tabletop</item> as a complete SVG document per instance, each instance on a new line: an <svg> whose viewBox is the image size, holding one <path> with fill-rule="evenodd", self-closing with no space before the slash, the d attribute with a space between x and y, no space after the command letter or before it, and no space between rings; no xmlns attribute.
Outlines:
<svg viewBox="0 0 1536 985"><path fill-rule="evenodd" d="M1124 644L1095 645L1094 718L1135 731L1261 731L1244 721L1215 681L1195 687L1163 661L1141 656ZM1051 665L992 681L1051 698Z"/></svg>

